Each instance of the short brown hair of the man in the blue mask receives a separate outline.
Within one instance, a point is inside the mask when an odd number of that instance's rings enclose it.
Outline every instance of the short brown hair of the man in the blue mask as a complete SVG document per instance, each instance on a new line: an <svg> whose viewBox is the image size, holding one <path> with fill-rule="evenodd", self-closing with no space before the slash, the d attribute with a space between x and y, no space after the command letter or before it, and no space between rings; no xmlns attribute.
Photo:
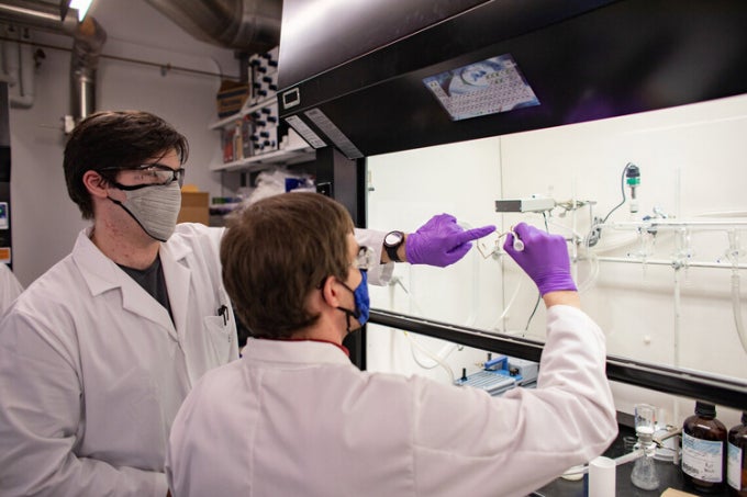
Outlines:
<svg viewBox="0 0 747 497"><path fill-rule="evenodd" d="M347 279L353 219L319 193L283 193L234 214L221 242L223 282L255 337L289 338L319 319L305 308L325 278Z"/></svg>

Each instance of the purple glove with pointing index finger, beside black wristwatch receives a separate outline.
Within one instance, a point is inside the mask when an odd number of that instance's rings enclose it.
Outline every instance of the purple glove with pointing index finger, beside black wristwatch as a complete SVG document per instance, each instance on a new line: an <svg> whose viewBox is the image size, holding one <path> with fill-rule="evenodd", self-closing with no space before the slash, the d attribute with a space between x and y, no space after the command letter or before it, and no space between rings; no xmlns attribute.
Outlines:
<svg viewBox="0 0 747 497"><path fill-rule="evenodd" d="M495 226L464 229L450 214L431 217L417 231L408 235L404 253L411 264L428 264L445 268L469 251L470 240L482 238L495 230Z"/></svg>

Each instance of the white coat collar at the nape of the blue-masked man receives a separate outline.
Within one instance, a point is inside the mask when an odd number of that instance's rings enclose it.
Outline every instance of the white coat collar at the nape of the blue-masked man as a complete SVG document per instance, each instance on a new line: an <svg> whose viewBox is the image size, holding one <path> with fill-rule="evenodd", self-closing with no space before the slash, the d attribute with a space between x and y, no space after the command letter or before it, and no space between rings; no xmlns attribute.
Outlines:
<svg viewBox="0 0 747 497"><path fill-rule="evenodd" d="M316 340L263 340L249 338L242 351L248 361L285 364L350 364L343 349L332 342Z"/></svg>

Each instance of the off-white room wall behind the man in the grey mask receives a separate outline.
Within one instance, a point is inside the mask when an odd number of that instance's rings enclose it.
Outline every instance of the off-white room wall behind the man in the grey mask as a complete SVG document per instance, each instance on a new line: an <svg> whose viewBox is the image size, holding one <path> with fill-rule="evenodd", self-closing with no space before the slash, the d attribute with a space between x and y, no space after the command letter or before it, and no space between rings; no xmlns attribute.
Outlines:
<svg viewBox="0 0 747 497"><path fill-rule="evenodd" d="M90 14L108 33L105 55L238 76L232 50L196 41L143 0L94 2ZM67 49L73 45L70 37L42 32L32 32L32 39ZM10 113L13 270L24 285L65 257L86 226L67 196L63 174L62 117L70 112L70 55L43 50L34 105ZM211 196L222 195L221 173L208 170L219 157L218 132L208 129L218 120L219 86L220 77L178 70L161 75L158 67L102 58L98 110L138 109L169 121L190 143L187 182Z"/></svg>

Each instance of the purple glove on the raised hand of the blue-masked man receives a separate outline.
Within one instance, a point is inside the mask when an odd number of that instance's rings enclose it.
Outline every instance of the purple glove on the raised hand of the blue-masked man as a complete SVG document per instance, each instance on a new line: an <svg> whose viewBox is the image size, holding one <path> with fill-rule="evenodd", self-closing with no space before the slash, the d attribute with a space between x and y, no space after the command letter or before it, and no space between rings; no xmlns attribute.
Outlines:
<svg viewBox="0 0 747 497"><path fill-rule="evenodd" d="M524 242L524 250L514 249L511 233L505 238L503 250L536 283L540 295L559 290L576 291L570 275L568 247L560 235L550 235L526 223L520 223L513 231Z"/></svg>

